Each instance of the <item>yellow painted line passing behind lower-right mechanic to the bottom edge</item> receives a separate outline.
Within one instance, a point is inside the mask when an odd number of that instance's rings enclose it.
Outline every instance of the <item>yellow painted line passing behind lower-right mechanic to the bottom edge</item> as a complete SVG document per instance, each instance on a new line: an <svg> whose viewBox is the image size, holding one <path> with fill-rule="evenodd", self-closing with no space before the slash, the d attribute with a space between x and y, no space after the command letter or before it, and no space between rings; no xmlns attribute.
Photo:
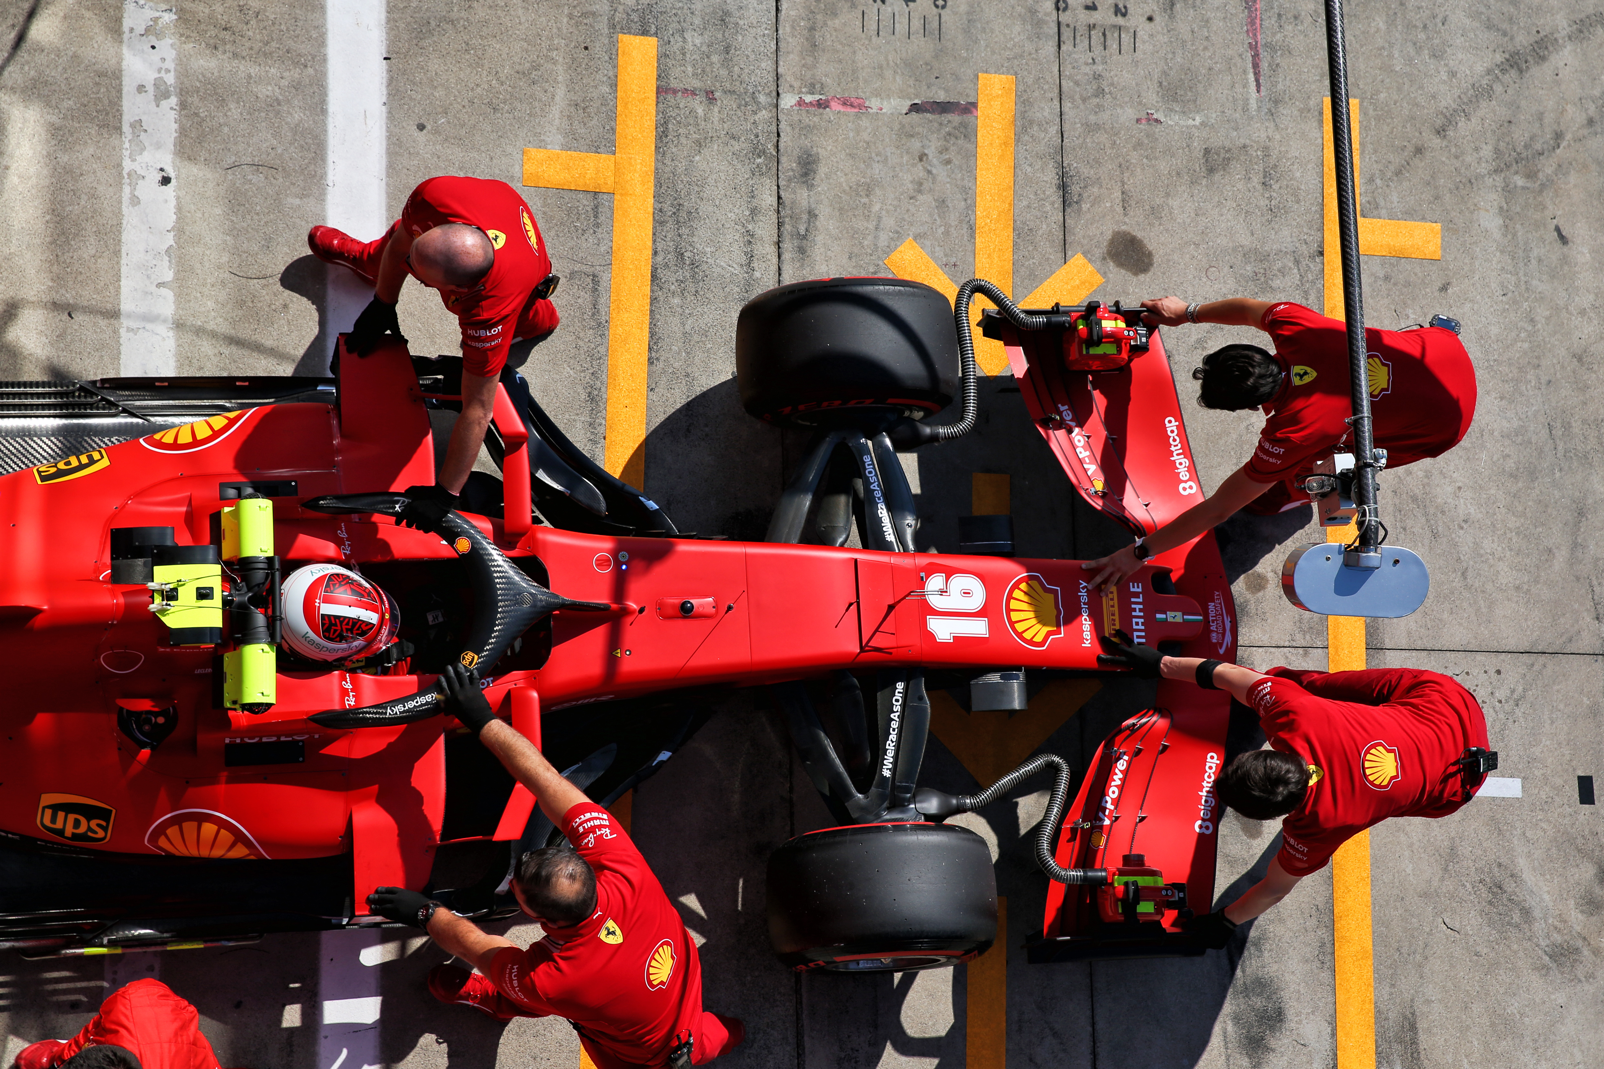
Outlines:
<svg viewBox="0 0 1604 1069"><path fill-rule="evenodd" d="M1327 527L1325 540L1347 543L1354 524ZM1365 667L1365 622L1360 617L1327 617L1327 670L1359 672ZM1370 928L1370 832L1360 832L1331 856L1331 938L1336 965L1336 1066L1375 1069L1376 994L1373 934Z"/></svg>

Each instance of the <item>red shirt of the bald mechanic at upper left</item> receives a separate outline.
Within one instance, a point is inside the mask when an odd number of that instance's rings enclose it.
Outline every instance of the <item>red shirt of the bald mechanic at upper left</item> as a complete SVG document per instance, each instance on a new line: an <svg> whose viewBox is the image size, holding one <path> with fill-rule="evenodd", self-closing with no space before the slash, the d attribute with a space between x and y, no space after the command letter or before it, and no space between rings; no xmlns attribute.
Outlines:
<svg viewBox="0 0 1604 1069"><path fill-rule="evenodd" d="M534 287L552 274L552 258L529 205L504 181L430 178L407 197L396 226L417 237L443 223L476 226L496 245L496 264L476 292L460 298L439 295L462 324L464 370L492 378L507 364L513 338L536 338L557 329L552 301L534 300Z"/></svg>

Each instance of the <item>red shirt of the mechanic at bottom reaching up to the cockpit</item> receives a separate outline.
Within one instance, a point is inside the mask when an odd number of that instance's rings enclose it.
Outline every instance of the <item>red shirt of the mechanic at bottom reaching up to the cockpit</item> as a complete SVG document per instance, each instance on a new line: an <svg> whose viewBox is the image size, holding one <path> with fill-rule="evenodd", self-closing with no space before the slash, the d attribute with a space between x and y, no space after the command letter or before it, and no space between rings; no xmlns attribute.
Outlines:
<svg viewBox="0 0 1604 1069"><path fill-rule="evenodd" d="M597 910L574 928L547 930L528 950L500 950L491 982L529 1013L568 1018L627 1064L662 1064L687 1032L698 1037L698 1063L719 1053L703 1039L696 944L646 859L589 801L563 816L563 832L597 873Z"/></svg>

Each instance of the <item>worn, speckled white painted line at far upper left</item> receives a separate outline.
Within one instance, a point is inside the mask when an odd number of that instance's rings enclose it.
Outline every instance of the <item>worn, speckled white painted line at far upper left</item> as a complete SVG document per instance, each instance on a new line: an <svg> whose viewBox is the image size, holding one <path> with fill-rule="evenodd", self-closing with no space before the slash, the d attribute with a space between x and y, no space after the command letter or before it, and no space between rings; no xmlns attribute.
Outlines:
<svg viewBox="0 0 1604 1069"><path fill-rule="evenodd" d="M173 0L122 2L122 359L124 375L172 375L173 143L178 80Z"/></svg>

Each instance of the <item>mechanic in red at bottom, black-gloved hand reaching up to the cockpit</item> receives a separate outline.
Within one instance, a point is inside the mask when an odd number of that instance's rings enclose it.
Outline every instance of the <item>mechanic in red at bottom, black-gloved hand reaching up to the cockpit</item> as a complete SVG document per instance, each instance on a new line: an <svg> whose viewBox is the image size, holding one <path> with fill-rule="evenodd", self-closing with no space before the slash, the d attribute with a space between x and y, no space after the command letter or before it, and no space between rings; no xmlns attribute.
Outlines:
<svg viewBox="0 0 1604 1069"><path fill-rule="evenodd" d="M513 894L545 928L528 950L417 891L377 888L367 898L374 912L423 928L478 970L436 965L430 992L497 1021L566 1018L600 1069L699 1066L735 1050L746 1027L703 1010L696 944L624 829L496 720L478 673L454 664L443 681L446 712L478 732L571 846L536 849L518 862Z"/></svg>

